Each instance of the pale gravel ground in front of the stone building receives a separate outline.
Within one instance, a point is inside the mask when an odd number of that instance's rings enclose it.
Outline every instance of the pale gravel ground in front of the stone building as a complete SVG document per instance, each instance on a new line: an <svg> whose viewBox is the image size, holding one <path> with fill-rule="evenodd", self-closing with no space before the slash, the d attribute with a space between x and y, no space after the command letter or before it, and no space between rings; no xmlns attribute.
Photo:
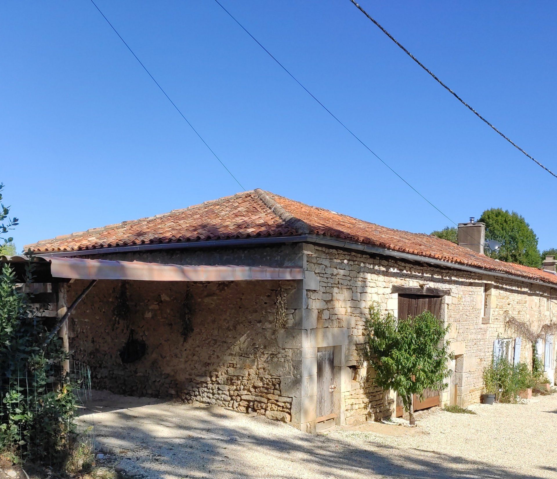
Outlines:
<svg viewBox="0 0 557 479"><path fill-rule="evenodd" d="M96 393L100 447L144 478L557 478L557 394L528 404L438 408L418 427L368 423L311 436L219 407Z"/></svg>

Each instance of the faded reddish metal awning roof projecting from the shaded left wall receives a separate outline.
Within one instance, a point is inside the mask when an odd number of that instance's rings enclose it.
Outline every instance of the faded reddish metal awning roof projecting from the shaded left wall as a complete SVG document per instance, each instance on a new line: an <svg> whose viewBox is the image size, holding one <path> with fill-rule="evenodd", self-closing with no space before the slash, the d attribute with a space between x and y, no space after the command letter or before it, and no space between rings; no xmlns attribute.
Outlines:
<svg viewBox="0 0 557 479"><path fill-rule="evenodd" d="M0 256L0 263L9 263L18 277L25 265L35 266L35 281L56 282L76 280L136 281L246 281L301 280L301 267L268 266L183 266L145 263L141 261L86 260L84 258Z"/></svg>

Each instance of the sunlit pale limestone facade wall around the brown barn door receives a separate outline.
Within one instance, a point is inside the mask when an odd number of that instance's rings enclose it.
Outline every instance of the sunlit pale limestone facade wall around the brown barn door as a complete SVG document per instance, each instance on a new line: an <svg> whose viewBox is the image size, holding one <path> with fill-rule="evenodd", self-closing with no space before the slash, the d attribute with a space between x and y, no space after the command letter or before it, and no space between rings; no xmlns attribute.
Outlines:
<svg viewBox="0 0 557 479"><path fill-rule="evenodd" d="M306 245L305 250L306 269L315 273L319 283L317 289L305 292L306 307L316 316L314 327L348 330L344 366L350 370L350 378L341 393L341 413L346 423L389 415L393 407L393 398L373 386L373 370L367 368L363 357L364 322L372 301L377 301L383 311L397 315L398 295L392 292L393 286L448 291L441 316L451 324L448 339L452 350L462 355L458 389L462 405L480 400L482 372L491 361L494 340L520 336L506 327L509 317L520 319L532 330L555 320L555 292L543 285L322 246ZM525 339L521 360L531 361L531 344ZM448 392L441 399L446 402Z"/></svg>

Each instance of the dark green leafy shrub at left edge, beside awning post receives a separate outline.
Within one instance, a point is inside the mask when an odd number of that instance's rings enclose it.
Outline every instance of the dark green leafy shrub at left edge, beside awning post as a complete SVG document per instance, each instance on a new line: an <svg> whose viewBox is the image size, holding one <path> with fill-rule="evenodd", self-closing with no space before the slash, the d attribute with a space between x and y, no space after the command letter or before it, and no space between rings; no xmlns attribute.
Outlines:
<svg viewBox="0 0 557 479"><path fill-rule="evenodd" d="M28 268L28 279L32 274ZM56 338L43 345L50 318L32 314L13 270L0 273L0 452L61 465L74 432L76 397Z"/></svg>

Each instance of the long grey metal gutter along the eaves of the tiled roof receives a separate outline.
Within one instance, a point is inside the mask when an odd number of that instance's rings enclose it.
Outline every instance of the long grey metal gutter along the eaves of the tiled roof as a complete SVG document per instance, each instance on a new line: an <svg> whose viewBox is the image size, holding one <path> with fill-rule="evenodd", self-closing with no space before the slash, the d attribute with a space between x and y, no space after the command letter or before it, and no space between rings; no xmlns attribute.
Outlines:
<svg viewBox="0 0 557 479"><path fill-rule="evenodd" d="M439 266L460 271L467 271L471 273L489 275L505 278L507 280L523 281L530 284L548 286L557 288L557 285L546 283L544 281L531 280L522 276L511 275L509 273L501 273L498 271L485 270L475 266L465 266L458 263L451 263L448 261L436 260L435 258L428 258L427 256L413 255L411 253L403 253L387 248L378 246L363 245L362 243L335 240L331 237L317 236L315 234L303 234L300 236L280 236L272 238L242 238L237 240L212 240L203 242L183 242L183 243L163 243L163 244L150 244L150 245L135 245L135 246L120 246L113 248L98 248L96 250L80 250L80 251L57 251L52 253L40 253L40 256L89 256L100 255L105 253L125 253L125 252L139 252L139 251L153 251L153 250L182 250L187 248L218 248L218 247L234 247L234 246L254 246L254 245L273 245L282 243L314 243L316 245L326 245L335 248L344 248L350 251L358 251L364 253L371 253L374 255L390 256L399 258L401 260L416 261L420 263L427 263L429 265Z"/></svg>

